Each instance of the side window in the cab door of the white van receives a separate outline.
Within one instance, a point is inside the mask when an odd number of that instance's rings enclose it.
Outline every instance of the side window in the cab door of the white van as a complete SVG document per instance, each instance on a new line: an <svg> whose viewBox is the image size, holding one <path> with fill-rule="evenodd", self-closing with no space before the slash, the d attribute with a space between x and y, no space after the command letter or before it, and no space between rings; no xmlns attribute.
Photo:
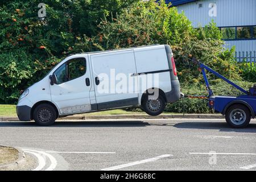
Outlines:
<svg viewBox="0 0 256 182"><path fill-rule="evenodd" d="M74 80L86 73L86 60L84 57L75 58L61 65L54 74L57 77L57 84Z"/></svg>

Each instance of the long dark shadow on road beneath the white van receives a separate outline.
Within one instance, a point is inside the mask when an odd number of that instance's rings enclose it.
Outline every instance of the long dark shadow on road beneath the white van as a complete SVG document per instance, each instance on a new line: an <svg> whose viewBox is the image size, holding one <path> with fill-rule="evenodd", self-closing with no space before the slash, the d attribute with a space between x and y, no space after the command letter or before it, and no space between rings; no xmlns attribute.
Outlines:
<svg viewBox="0 0 256 182"><path fill-rule="evenodd" d="M143 121L57 121L52 126L38 126L35 122L0 122L0 127L144 127Z"/></svg>

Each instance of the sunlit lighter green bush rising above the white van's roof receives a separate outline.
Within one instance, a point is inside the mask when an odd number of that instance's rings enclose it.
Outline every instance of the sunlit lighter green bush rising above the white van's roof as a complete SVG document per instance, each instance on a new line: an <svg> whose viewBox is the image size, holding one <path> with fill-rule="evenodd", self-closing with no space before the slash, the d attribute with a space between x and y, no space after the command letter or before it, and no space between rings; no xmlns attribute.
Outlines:
<svg viewBox="0 0 256 182"><path fill-rule="evenodd" d="M176 45L192 34L192 26L184 14L161 0L134 3L112 20L103 20L94 37L103 49L150 44Z"/></svg>

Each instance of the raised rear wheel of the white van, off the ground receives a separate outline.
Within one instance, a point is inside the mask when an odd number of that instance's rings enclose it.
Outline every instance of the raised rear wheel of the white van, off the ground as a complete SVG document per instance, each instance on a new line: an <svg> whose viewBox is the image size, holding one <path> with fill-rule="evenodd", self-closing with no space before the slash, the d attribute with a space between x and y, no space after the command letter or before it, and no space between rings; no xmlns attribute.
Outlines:
<svg viewBox="0 0 256 182"><path fill-rule="evenodd" d="M142 101L142 109L148 114L152 116L159 115L163 113L166 108L166 100L159 95L156 100L148 100L148 95L144 97Z"/></svg>

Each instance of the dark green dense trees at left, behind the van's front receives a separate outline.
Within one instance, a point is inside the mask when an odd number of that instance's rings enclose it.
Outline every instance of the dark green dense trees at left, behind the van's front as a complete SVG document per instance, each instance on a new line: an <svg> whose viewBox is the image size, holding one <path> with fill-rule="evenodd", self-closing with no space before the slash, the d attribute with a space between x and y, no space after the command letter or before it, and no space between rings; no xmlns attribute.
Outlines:
<svg viewBox="0 0 256 182"><path fill-rule="evenodd" d="M36 0L0 2L0 103L14 103L20 90L40 80L80 36L97 35L97 24L135 0L44 0L39 19ZM100 6L99 6L100 5Z"/></svg>

